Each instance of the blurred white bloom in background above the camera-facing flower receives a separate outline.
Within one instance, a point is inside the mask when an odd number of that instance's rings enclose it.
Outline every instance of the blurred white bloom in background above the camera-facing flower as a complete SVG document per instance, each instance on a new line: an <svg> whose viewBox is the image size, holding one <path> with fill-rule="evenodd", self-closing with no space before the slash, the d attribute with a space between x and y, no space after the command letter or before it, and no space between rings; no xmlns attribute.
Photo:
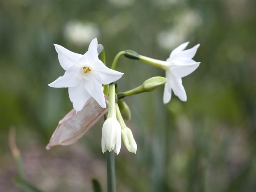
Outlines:
<svg viewBox="0 0 256 192"><path fill-rule="evenodd" d="M95 37L100 36L100 30L95 23L70 21L64 28L64 36L68 41L78 45L85 45Z"/></svg>

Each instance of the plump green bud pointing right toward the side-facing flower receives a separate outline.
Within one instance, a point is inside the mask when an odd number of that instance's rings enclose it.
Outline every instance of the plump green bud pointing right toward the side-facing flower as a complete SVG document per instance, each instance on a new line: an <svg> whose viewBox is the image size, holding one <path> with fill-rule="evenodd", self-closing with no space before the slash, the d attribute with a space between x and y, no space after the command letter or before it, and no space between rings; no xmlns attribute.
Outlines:
<svg viewBox="0 0 256 192"><path fill-rule="evenodd" d="M152 78L149 78L148 80L144 81L142 84L144 91L149 92L153 91L155 88L162 86L166 83L166 78L162 76L154 76Z"/></svg>

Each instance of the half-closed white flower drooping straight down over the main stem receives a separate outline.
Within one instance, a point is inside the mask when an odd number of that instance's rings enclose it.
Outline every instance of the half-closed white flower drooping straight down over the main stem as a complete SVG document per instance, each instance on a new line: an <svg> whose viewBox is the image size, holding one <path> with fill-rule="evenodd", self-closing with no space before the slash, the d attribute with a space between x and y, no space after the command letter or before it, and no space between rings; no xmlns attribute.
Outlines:
<svg viewBox="0 0 256 192"><path fill-rule="evenodd" d="M102 153L114 150L118 155L121 149L121 126L115 117L105 120L101 138Z"/></svg>

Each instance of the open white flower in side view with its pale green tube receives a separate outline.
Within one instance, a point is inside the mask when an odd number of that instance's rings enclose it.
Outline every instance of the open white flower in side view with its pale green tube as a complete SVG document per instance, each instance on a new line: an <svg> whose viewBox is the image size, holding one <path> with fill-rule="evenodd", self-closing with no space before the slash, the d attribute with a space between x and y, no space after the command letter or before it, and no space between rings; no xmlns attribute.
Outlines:
<svg viewBox="0 0 256 192"><path fill-rule="evenodd" d="M196 51L200 44L193 48L184 50L189 42L179 45L175 48L166 61L148 58L140 55L140 60L148 62L154 66L160 67L166 72L166 83L163 92L163 103L171 100L171 91L182 101L187 101L187 94L182 85L182 77L189 75L199 66L200 62L194 61Z"/></svg>

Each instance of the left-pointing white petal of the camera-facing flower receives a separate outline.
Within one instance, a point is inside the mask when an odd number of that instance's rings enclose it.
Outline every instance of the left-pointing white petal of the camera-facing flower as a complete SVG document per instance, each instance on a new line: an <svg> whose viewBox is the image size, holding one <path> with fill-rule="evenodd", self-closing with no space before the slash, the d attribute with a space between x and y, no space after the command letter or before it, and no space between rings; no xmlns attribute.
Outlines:
<svg viewBox="0 0 256 192"><path fill-rule="evenodd" d="M55 88L75 87L80 82L78 73L79 67L74 65L70 69L68 69L63 76L60 76L57 80L50 83L49 86Z"/></svg>

